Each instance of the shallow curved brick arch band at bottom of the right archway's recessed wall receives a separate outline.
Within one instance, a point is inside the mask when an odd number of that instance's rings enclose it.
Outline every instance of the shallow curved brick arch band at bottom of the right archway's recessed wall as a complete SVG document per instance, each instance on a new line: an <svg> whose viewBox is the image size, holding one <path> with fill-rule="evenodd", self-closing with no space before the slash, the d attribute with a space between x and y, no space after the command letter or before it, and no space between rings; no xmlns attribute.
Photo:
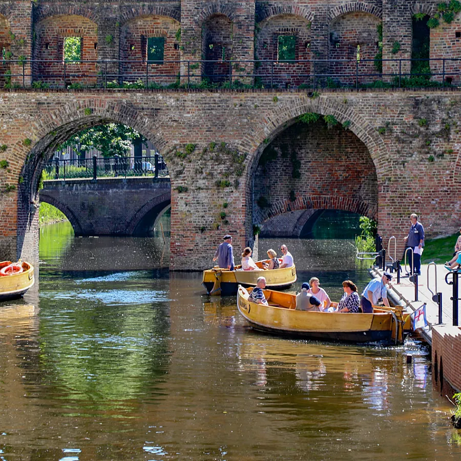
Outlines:
<svg viewBox="0 0 461 461"><path fill-rule="evenodd" d="M265 220L299 209L339 209L376 219L378 209L361 200L341 196L297 197L294 202L289 199L272 203L264 212Z"/></svg>

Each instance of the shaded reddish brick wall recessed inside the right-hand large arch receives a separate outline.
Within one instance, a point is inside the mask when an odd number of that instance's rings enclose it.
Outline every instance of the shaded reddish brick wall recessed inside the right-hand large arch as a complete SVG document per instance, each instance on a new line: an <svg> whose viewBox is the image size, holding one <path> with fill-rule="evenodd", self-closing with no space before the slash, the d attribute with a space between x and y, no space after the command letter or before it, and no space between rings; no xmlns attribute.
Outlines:
<svg viewBox="0 0 461 461"><path fill-rule="evenodd" d="M277 158L260 162L254 197L265 198L270 206L255 203L256 222L305 208L377 217L376 171L365 144L349 130L328 128L323 120L295 123L269 144L261 160L268 155Z"/></svg>

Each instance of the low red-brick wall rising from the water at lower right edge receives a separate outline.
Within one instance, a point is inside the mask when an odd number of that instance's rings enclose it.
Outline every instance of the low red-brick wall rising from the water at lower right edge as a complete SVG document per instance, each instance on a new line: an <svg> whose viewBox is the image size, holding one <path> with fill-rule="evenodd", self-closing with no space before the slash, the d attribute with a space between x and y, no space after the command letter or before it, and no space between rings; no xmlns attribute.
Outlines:
<svg viewBox="0 0 461 461"><path fill-rule="evenodd" d="M447 383L444 381L448 381L449 386L461 392L461 329L459 327L437 325L432 328L432 366L434 384L442 395L447 393Z"/></svg>

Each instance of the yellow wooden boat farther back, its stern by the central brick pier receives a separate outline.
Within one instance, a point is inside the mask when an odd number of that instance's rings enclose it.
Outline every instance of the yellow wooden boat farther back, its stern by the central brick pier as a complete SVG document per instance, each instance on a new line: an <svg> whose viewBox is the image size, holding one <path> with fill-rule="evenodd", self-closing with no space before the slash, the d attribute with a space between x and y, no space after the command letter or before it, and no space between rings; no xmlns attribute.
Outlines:
<svg viewBox="0 0 461 461"><path fill-rule="evenodd" d="M256 265L261 270L242 270L242 266L236 266L236 270L227 270L215 267L203 271L202 285L208 295L235 296L239 285L256 286L258 277L266 279L266 287L283 289L296 282L296 267L284 267L283 269L262 269L264 261L257 261Z"/></svg>

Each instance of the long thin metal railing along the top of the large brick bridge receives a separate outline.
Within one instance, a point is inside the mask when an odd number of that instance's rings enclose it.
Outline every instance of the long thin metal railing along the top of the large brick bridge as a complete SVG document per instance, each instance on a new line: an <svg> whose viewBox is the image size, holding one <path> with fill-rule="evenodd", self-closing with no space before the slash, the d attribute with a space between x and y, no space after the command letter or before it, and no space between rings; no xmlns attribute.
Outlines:
<svg viewBox="0 0 461 461"><path fill-rule="evenodd" d="M432 70L412 73L414 62ZM384 71L378 70L376 64ZM295 60L0 60L7 88L380 88L444 87L461 79L460 58ZM1 69L1 68L0 68ZM418 80L418 77L419 80ZM448 81L449 80L449 81Z"/></svg>

